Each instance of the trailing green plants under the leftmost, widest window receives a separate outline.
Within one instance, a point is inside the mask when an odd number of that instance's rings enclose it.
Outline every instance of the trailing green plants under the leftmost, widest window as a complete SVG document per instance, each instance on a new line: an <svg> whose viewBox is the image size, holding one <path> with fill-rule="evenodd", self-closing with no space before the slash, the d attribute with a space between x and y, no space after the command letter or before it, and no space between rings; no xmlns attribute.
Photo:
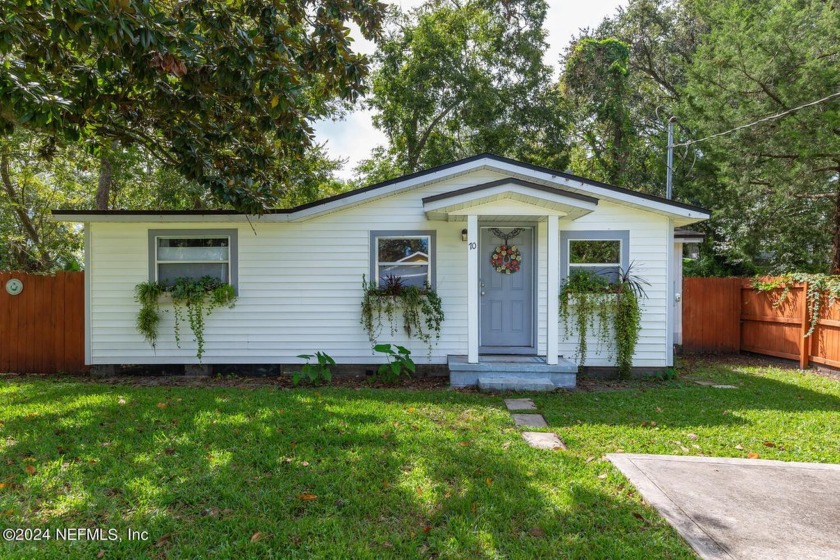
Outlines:
<svg viewBox="0 0 840 560"><path fill-rule="evenodd" d="M157 346L158 327L160 326L160 300L168 294L172 298L175 315L175 344L181 347L181 323L186 320L190 331L195 336L196 357L204 355L205 319L217 307L233 307L236 293L233 286L219 281L212 276L203 278L178 278L172 284L160 282L141 282L134 287L134 299L140 304L137 313L137 330L143 338Z"/></svg>

